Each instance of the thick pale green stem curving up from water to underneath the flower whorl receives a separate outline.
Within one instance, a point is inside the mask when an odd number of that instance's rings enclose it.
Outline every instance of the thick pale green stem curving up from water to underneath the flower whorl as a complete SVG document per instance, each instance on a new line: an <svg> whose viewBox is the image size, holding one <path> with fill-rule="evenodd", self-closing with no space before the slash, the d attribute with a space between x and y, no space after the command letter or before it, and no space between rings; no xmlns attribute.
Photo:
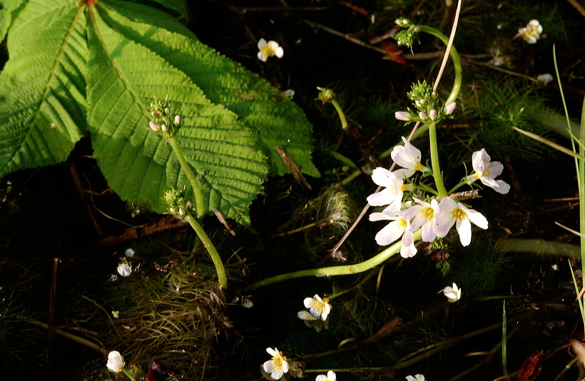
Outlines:
<svg viewBox="0 0 585 381"><path fill-rule="evenodd" d="M416 232L414 232L413 240L414 241L419 240L421 236L422 230L419 229ZM390 246L390 248L387 248L386 250L382 251L382 253L379 253L375 257L370 258L369 260L365 260L364 262L355 263L354 265L332 266L330 268L315 268L310 270L293 271L292 273L276 275L272 278L260 280L259 282L256 282L253 285L249 285L245 290L247 291L256 290L267 285L272 285L273 283L282 282L283 280L290 280L314 275L335 276L362 273L366 270L370 270L370 268L375 268L375 266L384 263L385 260L392 257L392 255L399 253L400 248L402 248L402 241L395 243L394 245Z"/></svg>

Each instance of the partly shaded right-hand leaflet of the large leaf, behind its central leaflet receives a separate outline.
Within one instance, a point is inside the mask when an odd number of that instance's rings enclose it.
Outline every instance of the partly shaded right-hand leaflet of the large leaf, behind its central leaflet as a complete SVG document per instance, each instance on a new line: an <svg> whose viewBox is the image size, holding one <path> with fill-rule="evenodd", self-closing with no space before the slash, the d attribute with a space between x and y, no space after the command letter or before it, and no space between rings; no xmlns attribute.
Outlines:
<svg viewBox="0 0 585 381"><path fill-rule="evenodd" d="M128 39L156 51L197 83L211 101L240 116L240 121L260 139L271 174L289 173L275 151L280 146L303 173L320 176L311 161L312 126L289 98L280 97L266 81L196 39L157 28L156 15L143 14L137 19L126 14L122 4L113 10L108 17L116 29L123 31Z"/></svg>

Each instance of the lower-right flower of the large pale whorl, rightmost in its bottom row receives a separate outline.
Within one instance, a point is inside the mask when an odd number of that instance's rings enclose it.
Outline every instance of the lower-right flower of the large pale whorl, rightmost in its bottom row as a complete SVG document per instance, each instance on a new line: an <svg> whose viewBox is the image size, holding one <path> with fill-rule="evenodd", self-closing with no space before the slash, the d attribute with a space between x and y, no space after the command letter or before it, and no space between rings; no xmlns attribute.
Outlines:
<svg viewBox="0 0 585 381"><path fill-rule="evenodd" d="M471 221L471 222L470 222ZM464 246L472 241L472 224L479 228L487 229L487 220L477 210L469 209L462 203L457 203L450 197L442 198L439 203L439 215L437 215L437 237L444 237L449 229L457 222L459 240Z"/></svg>

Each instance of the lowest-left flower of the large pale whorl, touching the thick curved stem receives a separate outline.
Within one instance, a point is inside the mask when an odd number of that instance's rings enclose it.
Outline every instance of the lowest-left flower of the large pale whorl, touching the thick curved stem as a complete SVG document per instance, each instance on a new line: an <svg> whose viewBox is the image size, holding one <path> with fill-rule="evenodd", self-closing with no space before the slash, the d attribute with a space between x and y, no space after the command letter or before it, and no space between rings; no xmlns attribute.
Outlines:
<svg viewBox="0 0 585 381"><path fill-rule="evenodd" d="M390 245L390 243L393 243L402 235L400 255L403 258L414 257L417 253L417 248L414 246L414 238L412 237L412 230L410 230L409 220L405 220L405 218L402 218L402 215L397 215L397 213L388 210L388 208L382 210L381 213L370 214L370 221L380 220L391 220L392 222L376 234L376 243L380 246Z"/></svg>

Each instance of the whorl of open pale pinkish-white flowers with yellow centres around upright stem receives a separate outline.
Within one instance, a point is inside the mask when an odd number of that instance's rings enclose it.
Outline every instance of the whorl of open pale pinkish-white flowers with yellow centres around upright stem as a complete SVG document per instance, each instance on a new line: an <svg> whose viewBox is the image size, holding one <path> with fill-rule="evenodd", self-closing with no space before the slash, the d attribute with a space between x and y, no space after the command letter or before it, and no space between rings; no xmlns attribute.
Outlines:
<svg viewBox="0 0 585 381"><path fill-rule="evenodd" d="M376 242L378 245L390 245L402 237L400 255L409 258L417 253L413 233L419 228L422 228L422 240L432 242L437 237L447 235L455 225L462 245L469 245L472 223L479 228L487 229L487 219L482 213L449 196L440 200L436 198L422 200L415 197L414 184L405 184L405 180L417 171L426 173L429 168L420 162L420 151L405 138L402 140L405 145L396 146L392 151L392 159L402 168L392 172L385 168L376 168L372 173L372 180L385 188L368 196L367 201L372 206L387 207L382 212L370 214L370 220L391 221L376 234ZM484 149L473 153L472 166L475 172L467 176L464 183L471 184L479 180L499 193L507 193L509 185L504 181L495 180L495 177L502 173L502 163L490 160Z"/></svg>

